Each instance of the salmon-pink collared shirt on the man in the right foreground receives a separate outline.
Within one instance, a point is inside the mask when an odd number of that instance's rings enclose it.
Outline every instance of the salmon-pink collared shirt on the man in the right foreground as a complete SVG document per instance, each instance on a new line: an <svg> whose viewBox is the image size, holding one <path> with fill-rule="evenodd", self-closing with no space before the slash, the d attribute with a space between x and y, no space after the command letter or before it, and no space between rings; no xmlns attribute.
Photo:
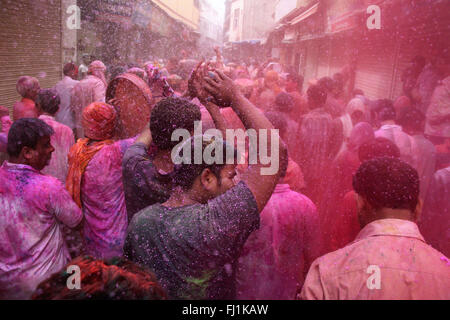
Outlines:
<svg viewBox="0 0 450 320"><path fill-rule="evenodd" d="M425 242L415 223L377 220L350 245L314 261L300 298L448 300L450 262Z"/></svg>

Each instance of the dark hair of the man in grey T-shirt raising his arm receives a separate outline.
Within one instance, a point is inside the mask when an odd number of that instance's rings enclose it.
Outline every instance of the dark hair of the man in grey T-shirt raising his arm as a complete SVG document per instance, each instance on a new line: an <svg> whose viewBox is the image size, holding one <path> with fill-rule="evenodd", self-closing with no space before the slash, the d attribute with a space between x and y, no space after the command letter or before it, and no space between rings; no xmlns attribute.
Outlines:
<svg viewBox="0 0 450 320"><path fill-rule="evenodd" d="M191 137L188 141L185 142L185 144L191 144L191 154L186 155L190 157L191 164L177 164L174 167L174 171L172 172L172 182L173 185L182 187L183 190L189 190L192 188L195 179L202 174L202 172L206 169L211 170L211 172L219 179L219 183L221 182L220 178L220 172L222 169L226 166L227 160L229 159L228 154L232 153L233 155L233 163L236 163L236 159L238 158L238 154L236 149L231 149L231 146L226 143L225 141L214 141L211 142L203 141L202 142L202 163L201 164L195 164L194 163L194 157L195 157L195 136ZM197 137L198 138L198 137ZM203 139L203 137L201 137ZM203 153L205 149L209 146L212 148L212 150L215 151L213 144L220 144L219 148L222 148L222 161L220 164L213 163L213 164L207 164L203 160ZM182 156L185 156L183 154L183 149L178 150L179 156L183 158ZM215 156L215 152L211 152L211 156Z"/></svg>

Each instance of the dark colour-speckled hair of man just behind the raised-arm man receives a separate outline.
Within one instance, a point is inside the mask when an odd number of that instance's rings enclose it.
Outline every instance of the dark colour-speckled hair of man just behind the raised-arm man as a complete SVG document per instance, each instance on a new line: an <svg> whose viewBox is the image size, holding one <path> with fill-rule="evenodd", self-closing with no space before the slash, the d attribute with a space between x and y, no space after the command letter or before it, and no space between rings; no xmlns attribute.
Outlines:
<svg viewBox="0 0 450 320"><path fill-rule="evenodd" d="M179 143L172 141L172 133L177 129L194 131L194 122L201 118L200 108L188 100L163 99L156 104L150 116L153 142L160 150L170 150Z"/></svg>

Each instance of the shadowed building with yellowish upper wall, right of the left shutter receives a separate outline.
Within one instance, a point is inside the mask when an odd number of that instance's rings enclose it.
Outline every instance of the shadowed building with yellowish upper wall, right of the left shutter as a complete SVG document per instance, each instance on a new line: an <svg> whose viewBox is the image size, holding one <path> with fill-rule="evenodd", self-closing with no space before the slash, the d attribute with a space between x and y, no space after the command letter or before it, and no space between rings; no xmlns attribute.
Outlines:
<svg viewBox="0 0 450 320"><path fill-rule="evenodd" d="M199 39L196 0L78 0L82 28L78 59L87 53L107 65L141 65L193 52Z"/></svg>

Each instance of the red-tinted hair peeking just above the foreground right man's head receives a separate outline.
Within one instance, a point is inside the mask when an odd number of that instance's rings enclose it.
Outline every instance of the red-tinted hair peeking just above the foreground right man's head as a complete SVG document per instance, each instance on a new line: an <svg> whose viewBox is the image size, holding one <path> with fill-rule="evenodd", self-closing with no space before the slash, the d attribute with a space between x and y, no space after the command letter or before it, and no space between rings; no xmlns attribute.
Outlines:
<svg viewBox="0 0 450 320"><path fill-rule="evenodd" d="M400 149L391 140L378 137L363 143L358 149L358 155L361 162L380 157L400 158Z"/></svg>

